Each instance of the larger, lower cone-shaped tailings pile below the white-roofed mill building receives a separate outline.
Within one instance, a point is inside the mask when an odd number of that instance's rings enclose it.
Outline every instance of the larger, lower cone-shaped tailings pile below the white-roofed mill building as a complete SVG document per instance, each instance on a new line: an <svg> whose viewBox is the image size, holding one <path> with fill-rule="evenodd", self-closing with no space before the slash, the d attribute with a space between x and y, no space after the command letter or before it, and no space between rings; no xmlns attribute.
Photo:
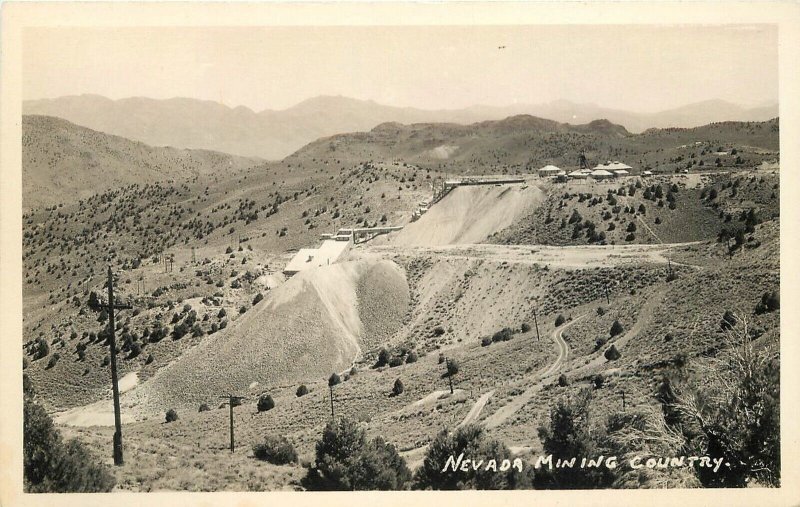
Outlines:
<svg viewBox="0 0 800 507"><path fill-rule="evenodd" d="M325 380L395 332L408 304L405 275L391 261L301 272L128 393L123 403L154 414L173 406L213 406L229 392L257 395L270 386Z"/></svg>

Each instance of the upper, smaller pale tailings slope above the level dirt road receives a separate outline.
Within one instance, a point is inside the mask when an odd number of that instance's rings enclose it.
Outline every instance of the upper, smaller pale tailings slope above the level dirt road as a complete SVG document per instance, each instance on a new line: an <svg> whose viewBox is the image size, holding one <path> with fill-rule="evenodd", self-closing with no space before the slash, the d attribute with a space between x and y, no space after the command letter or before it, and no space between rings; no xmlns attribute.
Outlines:
<svg viewBox="0 0 800 507"><path fill-rule="evenodd" d="M544 200L536 186L474 185L453 189L391 243L438 246L481 243L513 224Z"/></svg>

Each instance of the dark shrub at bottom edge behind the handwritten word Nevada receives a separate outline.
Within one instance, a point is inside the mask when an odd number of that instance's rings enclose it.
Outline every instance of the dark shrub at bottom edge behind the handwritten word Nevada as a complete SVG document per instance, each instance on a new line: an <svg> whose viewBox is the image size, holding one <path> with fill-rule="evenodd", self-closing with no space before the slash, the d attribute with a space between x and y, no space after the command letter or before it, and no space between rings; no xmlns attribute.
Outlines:
<svg viewBox="0 0 800 507"><path fill-rule="evenodd" d="M442 430L433 439L425 459L414 476L414 489L457 490L457 489L515 489L530 488L531 472L519 472L511 467L508 470L491 471L486 466L477 470L470 467L466 472L446 467L452 456L457 459L464 454L472 460L495 460L498 467L502 460L513 460L511 451L499 440L491 439L485 430L476 424L458 428L452 434Z"/></svg>

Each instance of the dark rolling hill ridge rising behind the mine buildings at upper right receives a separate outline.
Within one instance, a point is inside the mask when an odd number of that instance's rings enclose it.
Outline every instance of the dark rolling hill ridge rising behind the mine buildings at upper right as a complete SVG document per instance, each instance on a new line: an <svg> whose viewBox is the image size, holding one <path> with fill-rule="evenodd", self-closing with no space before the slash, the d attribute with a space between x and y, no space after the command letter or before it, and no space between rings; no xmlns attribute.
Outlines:
<svg viewBox="0 0 800 507"><path fill-rule="evenodd" d="M720 147L731 154L738 148L742 163L757 165L777 158L779 146L777 119L632 134L608 120L572 125L520 115L471 125L384 123L369 132L319 139L286 161L395 160L449 173L505 174L530 173L545 164L577 167L583 152L592 165L616 159L637 170L649 166L672 172L687 161L699 161L698 156L713 163L718 155L712 154ZM735 156L729 155L721 156L724 165L733 162Z"/></svg>

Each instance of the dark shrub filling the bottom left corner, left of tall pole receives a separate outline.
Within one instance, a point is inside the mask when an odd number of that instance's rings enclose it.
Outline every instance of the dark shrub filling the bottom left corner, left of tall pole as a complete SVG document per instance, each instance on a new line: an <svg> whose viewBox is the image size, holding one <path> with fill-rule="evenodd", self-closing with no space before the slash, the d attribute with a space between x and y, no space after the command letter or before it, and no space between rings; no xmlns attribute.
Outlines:
<svg viewBox="0 0 800 507"><path fill-rule="evenodd" d="M78 440L66 443L45 410L28 399L23 412L23 487L26 493L108 492L113 474Z"/></svg>

